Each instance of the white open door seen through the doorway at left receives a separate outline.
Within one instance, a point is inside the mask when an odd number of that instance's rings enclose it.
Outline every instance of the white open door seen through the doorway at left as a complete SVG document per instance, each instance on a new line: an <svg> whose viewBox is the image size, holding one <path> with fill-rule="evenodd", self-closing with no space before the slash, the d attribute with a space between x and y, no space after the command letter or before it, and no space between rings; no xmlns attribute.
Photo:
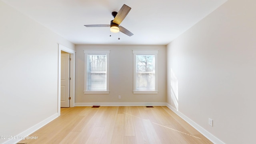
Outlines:
<svg viewBox="0 0 256 144"><path fill-rule="evenodd" d="M70 54L61 54L60 107L69 107L69 69Z"/></svg>

